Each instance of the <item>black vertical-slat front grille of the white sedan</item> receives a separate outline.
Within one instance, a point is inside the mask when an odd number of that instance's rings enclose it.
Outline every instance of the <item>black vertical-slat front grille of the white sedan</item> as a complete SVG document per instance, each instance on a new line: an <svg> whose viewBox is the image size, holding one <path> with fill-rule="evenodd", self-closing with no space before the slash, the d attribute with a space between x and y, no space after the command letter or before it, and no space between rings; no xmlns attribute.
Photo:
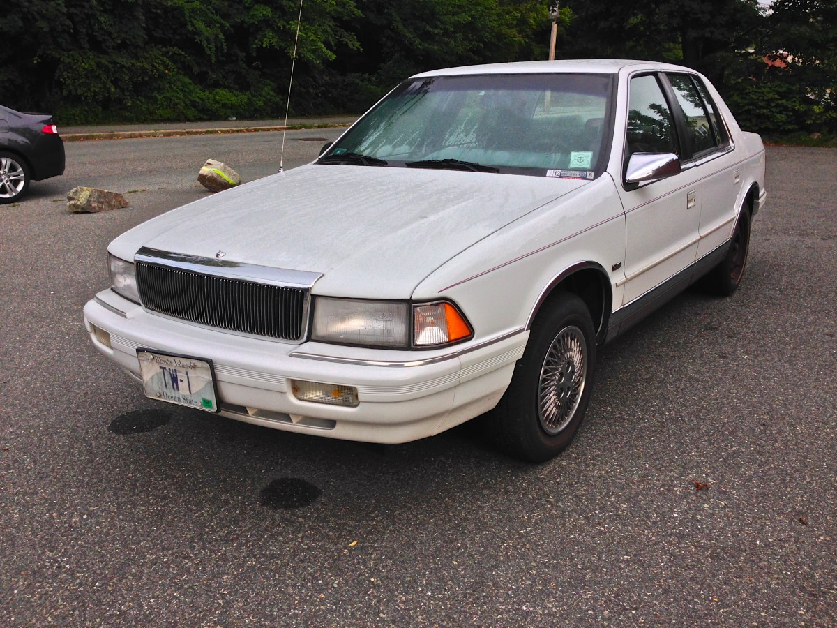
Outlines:
<svg viewBox="0 0 837 628"><path fill-rule="evenodd" d="M308 291L136 263L142 305L184 321L258 336L300 340Z"/></svg>

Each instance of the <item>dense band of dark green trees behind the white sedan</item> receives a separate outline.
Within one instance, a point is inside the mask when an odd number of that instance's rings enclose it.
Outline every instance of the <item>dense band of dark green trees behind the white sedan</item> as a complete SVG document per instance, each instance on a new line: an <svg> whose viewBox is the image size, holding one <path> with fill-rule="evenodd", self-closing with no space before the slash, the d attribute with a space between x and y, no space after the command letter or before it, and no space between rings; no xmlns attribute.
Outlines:
<svg viewBox="0 0 837 628"><path fill-rule="evenodd" d="M546 59L549 0L306 0L291 111L362 111L445 66ZM0 20L0 102L59 123L285 111L299 0L28 0ZM708 75L743 126L837 131L837 0L562 0L558 58ZM765 58L783 59L778 66Z"/></svg>

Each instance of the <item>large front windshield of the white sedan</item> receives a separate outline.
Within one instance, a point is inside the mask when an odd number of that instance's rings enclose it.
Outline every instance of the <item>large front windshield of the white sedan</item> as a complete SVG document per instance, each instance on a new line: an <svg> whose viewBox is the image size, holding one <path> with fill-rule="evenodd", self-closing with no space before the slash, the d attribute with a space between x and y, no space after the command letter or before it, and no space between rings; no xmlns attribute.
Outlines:
<svg viewBox="0 0 837 628"><path fill-rule="evenodd" d="M410 80L320 162L593 178L604 166L612 91L611 75Z"/></svg>

